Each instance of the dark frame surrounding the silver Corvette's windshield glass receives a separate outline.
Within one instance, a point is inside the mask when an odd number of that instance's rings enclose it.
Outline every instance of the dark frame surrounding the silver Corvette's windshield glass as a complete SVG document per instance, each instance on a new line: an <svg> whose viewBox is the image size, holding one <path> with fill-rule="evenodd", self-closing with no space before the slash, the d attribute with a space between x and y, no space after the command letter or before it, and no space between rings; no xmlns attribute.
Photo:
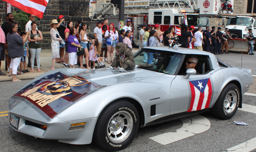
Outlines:
<svg viewBox="0 0 256 152"><path fill-rule="evenodd" d="M176 67L176 71L174 72L174 74L168 74L168 73L154 71L154 70L150 70L150 69L146 69L146 68L142 68L142 67L137 67L138 64L136 64L136 57L139 56L144 51L150 51L150 52L154 51L154 52L159 52L159 53L169 53L169 54L173 54L173 55L180 55L180 61L178 63L178 66ZM185 58L185 55L181 54L181 53L177 53L177 52L172 52L172 51L164 51L164 50L158 50L158 49L142 48L140 51L138 51L137 53L134 54L134 57L135 57L134 60L135 60L136 67L139 68L139 69L149 70L149 71L158 72L158 73L162 73L162 74L168 74L168 75L178 75L178 72L179 72L181 64L182 64L182 62L183 62L183 60Z"/></svg>

